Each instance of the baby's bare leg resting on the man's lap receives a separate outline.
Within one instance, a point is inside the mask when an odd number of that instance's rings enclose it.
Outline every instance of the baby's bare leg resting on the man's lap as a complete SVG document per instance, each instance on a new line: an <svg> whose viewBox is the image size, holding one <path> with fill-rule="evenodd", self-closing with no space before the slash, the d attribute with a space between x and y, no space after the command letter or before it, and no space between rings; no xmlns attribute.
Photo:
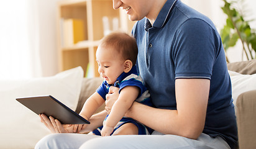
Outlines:
<svg viewBox="0 0 256 149"><path fill-rule="evenodd" d="M112 135L137 135L139 129L132 123L126 123L119 127Z"/></svg>

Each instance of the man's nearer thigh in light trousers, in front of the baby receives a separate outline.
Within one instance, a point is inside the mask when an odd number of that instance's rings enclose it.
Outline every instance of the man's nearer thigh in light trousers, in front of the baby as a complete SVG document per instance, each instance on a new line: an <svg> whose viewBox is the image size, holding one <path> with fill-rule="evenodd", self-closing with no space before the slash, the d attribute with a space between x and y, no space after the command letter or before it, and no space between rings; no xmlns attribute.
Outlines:
<svg viewBox="0 0 256 149"><path fill-rule="evenodd" d="M117 135L111 137L99 137L89 140L81 145L85 148L196 148L196 149L230 149L221 138L211 138L202 133L198 140L180 137L177 135Z"/></svg>

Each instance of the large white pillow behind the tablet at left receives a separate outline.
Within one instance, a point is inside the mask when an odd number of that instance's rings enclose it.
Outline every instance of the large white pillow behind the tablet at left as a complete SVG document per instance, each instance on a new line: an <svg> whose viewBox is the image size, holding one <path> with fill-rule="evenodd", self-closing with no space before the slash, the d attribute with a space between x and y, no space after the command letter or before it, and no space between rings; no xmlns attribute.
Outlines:
<svg viewBox="0 0 256 149"><path fill-rule="evenodd" d="M45 78L0 80L0 148L34 148L50 133L37 114L16 101L17 97L52 95L75 111L82 79L83 69L77 67Z"/></svg>

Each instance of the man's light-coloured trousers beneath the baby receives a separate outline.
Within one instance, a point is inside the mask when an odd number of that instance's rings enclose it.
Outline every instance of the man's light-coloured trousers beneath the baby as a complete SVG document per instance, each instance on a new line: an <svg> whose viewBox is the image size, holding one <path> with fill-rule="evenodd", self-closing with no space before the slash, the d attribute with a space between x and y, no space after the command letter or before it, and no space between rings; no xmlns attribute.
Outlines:
<svg viewBox="0 0 256 149"><path fill-rule="evenodd" d="M85 135L78 133L55 133L43 137L35 149L57 149L57 148L196 148L196 149L230 149L229 145L221 138L211 138L202 133L197 140L180 137L177 135L116 135L101 137L97 135Z"/></svg>

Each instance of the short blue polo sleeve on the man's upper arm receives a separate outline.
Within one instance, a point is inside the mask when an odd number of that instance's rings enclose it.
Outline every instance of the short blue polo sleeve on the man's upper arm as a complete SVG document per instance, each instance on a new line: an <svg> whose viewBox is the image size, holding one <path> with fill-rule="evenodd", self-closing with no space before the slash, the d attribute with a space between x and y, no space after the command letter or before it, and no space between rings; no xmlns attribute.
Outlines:
<svg viewBox="0 0 256 149"><path fill-rule="evenodd" d="M201 19L188 19L176 30L173 43L175 79L211 79L216 51L216 30Z"/></svg>

